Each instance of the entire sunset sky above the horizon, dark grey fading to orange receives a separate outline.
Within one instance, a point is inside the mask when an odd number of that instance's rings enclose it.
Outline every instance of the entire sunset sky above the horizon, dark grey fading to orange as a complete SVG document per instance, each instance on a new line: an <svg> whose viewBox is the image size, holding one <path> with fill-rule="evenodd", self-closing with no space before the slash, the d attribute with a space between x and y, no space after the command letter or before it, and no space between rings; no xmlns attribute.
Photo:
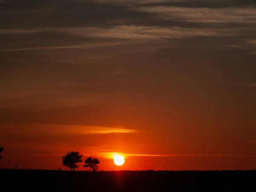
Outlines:
<svg viewBox="0 0 256 192"><path fill-rule="evenodd" d="M1 168L256 169L255 0L0 0L0 23Z"/></svg>

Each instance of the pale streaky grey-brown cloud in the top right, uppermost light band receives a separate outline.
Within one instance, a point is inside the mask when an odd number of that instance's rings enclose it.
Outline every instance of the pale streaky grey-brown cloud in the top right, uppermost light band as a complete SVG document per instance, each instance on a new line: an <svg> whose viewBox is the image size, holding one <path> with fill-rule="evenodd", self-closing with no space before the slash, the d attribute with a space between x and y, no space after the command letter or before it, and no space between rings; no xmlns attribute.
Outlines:
<svg viewBox="0 0 256 192"><path fill-rule="evenodd" d="M177 6L137 6L134 11L155 13L164 20L199 23L256 23L256 8L189 8Z"/></svg>

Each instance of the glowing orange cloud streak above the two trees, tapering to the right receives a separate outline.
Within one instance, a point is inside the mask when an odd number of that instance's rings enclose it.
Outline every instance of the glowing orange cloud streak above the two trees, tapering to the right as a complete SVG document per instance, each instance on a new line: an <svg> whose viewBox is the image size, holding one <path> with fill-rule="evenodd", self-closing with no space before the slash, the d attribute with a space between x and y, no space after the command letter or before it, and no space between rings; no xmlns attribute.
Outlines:
<svg viewBox="0 0 256 192"><path fill-rule="evenodd" d="M23 124L23 125L1 125L3 134L26 135L85 135L85 134L111 134L111 133L133 133L135 130L122 127L101 127L93 125L53 125L53 124Z"/></svg>

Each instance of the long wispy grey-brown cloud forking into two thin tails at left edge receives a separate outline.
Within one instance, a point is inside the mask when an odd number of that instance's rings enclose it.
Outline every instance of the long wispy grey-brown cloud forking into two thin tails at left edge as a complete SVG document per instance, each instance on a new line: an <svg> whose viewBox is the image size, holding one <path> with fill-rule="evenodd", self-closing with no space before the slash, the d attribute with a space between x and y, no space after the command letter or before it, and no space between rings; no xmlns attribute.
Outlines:
<svg viewBox="0 0 256 192"><path fill-rule="evenodd" d="M21 47L21 48L1 48L0 52L14 51L35 51L46 49L90 49L96 47L114 47L120 45L152 44L156 40L158 46L163 47L166 39L182 39L199 36L236 36L244 31L244 28L237 29L198 29L185 27L162 27L162 26L126 26L119 25L109 28L101 27L71 27L71 28L42 28L42 29L20 29L20 30L0 30L0 34L26 34L35 32L60 32L80 38L91 38L91 42L81 44L70 44L65 46L42 46L42 47ZM101 38L102 41L95 39ZM82 41L82 40L81 40ZM161 42L162 41L162 42ZM161 44L163 43L163 44ZM155 47L155 44L154 44Z"/></svg>

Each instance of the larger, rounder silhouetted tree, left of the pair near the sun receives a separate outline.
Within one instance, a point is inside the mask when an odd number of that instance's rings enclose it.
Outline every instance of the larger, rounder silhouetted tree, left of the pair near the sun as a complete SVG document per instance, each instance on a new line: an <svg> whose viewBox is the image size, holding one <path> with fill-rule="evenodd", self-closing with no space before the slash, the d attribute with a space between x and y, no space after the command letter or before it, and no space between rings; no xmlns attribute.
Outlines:
<svg viewBox="0 0 256 192"><path fill-rule="evenodd" d="M75 171L75 169L78 169L80 166L78 163L82 162L82 156L83 155L78 151L68 151L67 154L62 157L62 165Z"/></svg>

